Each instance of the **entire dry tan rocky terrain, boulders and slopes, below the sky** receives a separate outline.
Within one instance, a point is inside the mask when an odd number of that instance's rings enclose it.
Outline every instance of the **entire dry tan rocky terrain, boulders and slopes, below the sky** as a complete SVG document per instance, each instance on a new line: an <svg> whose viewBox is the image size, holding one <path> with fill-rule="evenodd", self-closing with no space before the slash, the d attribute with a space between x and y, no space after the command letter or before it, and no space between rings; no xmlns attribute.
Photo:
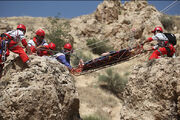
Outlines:
<svg viewBox="0 0 180 120"><path fill-rule="evenodd" d="M29 16L0 18L0 32L16 29L19 23L27 27L27 41L33 38L35 31L39 28L43 28L47 34L50 34L53 29L62 25L63 27L60 28L66 33L65 36L59 36L58 34L61 35L61 33L55 32L52 35L64 39L64 41L71 42L74 47L74 54L77 54L78 57L84 60L99 57L98 54L95 54L88 47L88 40L95 39L97 42L101 42L100 45L104 43L106 46L110 46L111 50L120 50L133 47L138 42L143 42L152 36L151 31L155 26L162 26L165 32L172 32L176 35L178 41L178 44L175 46L177 58L165 57L155 61L148 61L148 57L152 53L148 52L130 61L110 67L114 73L118 73L122 78L128 77L125 91L119 91L115 94L102 87L104 83L98 80L100 75L106 74L107 69L78 77L71 76L62 65L59 66L56 62L51 63L51 61L39 59L39 57L36 58L35 56L32 57L34 59L32 68L24 69L21 66L22 64L18 65L15 61L16 69L14 69L11 60L18 58L14 54L11 54L6 64L6 76L0 80L2 83L0 98L9 96L6 93L7 91L13 100L15 100L16 105L22 106L6 108L6 106L14 105L7 98L6 101L3 101L3 107L0 108L0 118L6 116L5 118L8 119L10 115L14 119L25 118L34 114L31 119L39 119L40 117L54 119L55 114L60 114L55 117L58 119L63 113L63 120L66 120L72 119L72 116L77 117L80 113L82 118L86 116L97 116L101 120L161 120L170 117L173 120L178 120L178 115L180 115L178 112L180 16L162 14L146 1L130 1L121 4L120 1L113 0L103 1L92 14L72 19L35 18ZM46 36L46 39L53 41L56 38ZM156 42L145 44L144 48L148 49L154 44ZM109 49L104 50L108 51ZM76 57L72 57L72 63L76 65L74 61L77 61ZM40 65L38 66L36 63L40 63ZM11 67L8 68L8 65ZM56 65L57 68L53 68ZM49 75L52 78L48 79L49 77L39 76L39 70L42 72L42 76ZM56 70L58 70L57 76L52 76ZM20 76L20 74L23 74L23 76ZM10 75L15 77L10 78ZM30 77L27 77L27 75ZM33 75L36 77L33 78ZM58 82L57 86L55 84L56 82ZM7 86L3 87L6 83L8 83ZM18 91L17 88L20 90ZM27 89L31 88L40 88L40 90L35 89L34 91L37 95L28 97L32 93L34 95L33 90L26 92ZM63 90L63 93L60 92L61 90ZM11 91L15 91L15 93ZM41 94L43 91L49 92L47 94ZM6 94L3 95L4 93ZM53 94L49 97L51 93ZM57 98L59 93L62 96ZM156 94L153 95L153 93ZM66 95L67 97L64 98L66 101L63 101L63 96ZM25 96L25 98L22 98L22 96ZM38 102L37 105L36 102L33 102L34 97L40 99L42 103L46 103L49 100L51 102L44 105ZM25 105L27 99L30 99L27 102L32 103L30 105L33 106L35 111L39 112L31 113L32 107ZM61 103L62 101L63 103ZM56 108L55 106L57 104L65 106ZM75 106L73 106L74 104ZM47 107L53 110L49 110ZM64 109L61 109L62 107ZM71 107L73 108L73 112L71 111ZM17 112L13 113L14 110ZM72 118L66 118L68 116L66 113L69 111L72 112ZM23 113L22 115L20 114L21 112ZM76 118L74 119L76 120Z"/></svg>

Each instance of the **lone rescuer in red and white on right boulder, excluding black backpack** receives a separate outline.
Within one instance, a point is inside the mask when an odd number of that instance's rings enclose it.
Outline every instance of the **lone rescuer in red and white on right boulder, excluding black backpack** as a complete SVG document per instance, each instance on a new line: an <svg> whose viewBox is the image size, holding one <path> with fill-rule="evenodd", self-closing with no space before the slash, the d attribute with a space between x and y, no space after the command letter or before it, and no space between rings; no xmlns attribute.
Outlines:
<svg viewBox="0 0 180 120"><path fill-rule="evenodd" d="M149 60L158 59L162 55L172 57L175 53L175 49L173 45L168 42L168 38L163 34L163 29L161 27L155 27L152 33L154 33L154 36L149 37L145 42L151 42L153 40L156 40L158 43L152 48L154 52L149 57Z"/></svg>

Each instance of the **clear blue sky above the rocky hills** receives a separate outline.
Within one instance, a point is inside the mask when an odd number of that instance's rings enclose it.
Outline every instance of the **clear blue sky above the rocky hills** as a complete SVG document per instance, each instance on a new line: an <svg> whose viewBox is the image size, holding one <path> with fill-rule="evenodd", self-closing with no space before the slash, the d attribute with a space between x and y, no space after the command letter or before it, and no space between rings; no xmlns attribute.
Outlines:
<svg viewBox="0 0 180 120"><path fill-rule="evenodd" d="M60 13L62 18L72 18L94 12L103 0L66 0L66 1L0 1L0 17L33 16L48 17ZM159 11L171 4L174 0L148 1ZM124 1L122 1L124 3ZM180 15L180 1L169 9L167 14Z"/></svg>

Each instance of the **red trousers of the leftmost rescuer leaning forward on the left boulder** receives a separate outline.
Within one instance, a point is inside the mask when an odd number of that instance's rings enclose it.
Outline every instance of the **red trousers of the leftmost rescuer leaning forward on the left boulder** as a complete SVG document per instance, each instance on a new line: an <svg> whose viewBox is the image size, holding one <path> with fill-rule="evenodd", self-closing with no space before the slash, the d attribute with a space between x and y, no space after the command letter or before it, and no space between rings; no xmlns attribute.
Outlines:
<svg viewBox="0 0 180 120"><path fill-rule="evenodd" d="M19 45L17 45L16 47L13 47L11 49L12 52L19 54L21 60L23 61L23 63L27 62L29 60L29 57L27 56L27 54L24 52L23 48Z"/></svg>

